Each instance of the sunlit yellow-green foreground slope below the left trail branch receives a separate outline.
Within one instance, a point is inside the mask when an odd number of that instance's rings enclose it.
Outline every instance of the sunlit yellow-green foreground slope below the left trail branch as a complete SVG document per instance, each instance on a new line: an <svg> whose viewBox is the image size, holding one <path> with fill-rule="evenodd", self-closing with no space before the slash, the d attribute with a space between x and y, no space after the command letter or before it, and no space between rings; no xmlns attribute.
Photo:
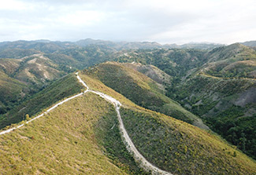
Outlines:
<svg viewBox="0 0 256 175"><path fill-rule="evenodd" d="M116 115L111 104L87 94L1 136L1 173L124 174L95 138L98 120L109 115Z"/></svg>

